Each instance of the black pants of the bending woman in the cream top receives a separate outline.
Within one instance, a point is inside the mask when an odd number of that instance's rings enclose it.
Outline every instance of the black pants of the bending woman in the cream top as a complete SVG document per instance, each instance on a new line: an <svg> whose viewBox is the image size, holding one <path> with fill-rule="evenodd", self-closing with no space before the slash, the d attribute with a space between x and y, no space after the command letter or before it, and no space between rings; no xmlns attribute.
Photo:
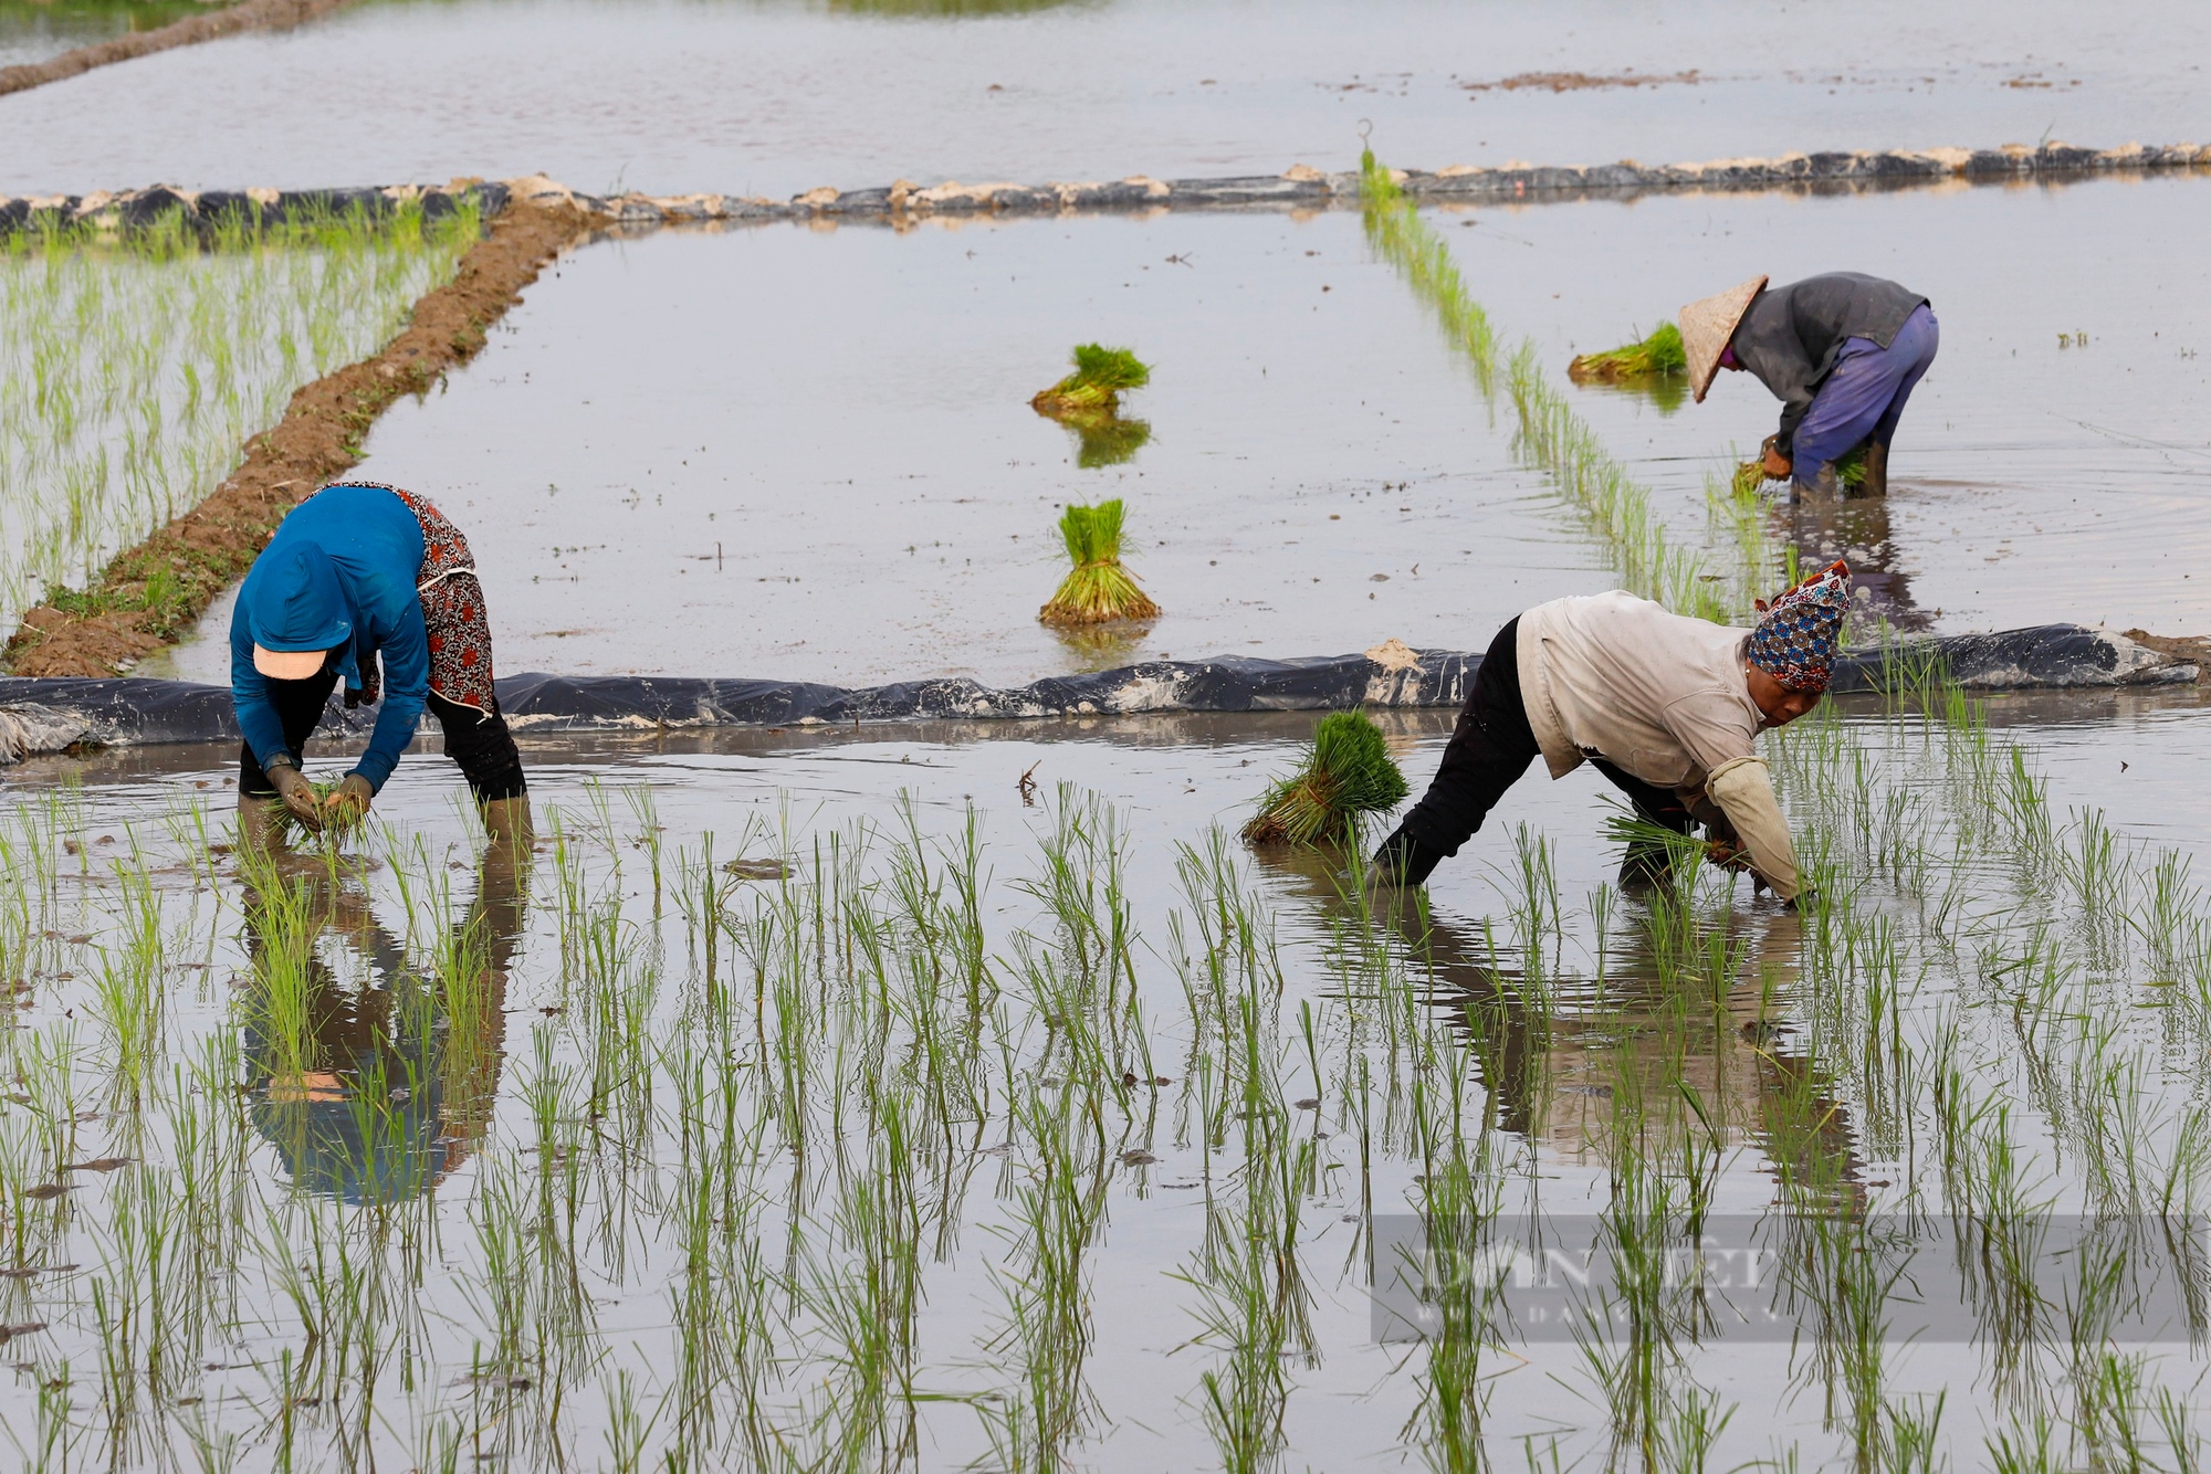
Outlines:
<svg viewBox="0 0 2211 1474"><path fill-rule="evenodd" d="M1417 851L1431 855L1428 868L1433 860L1457 855L1506 789L1519 782L1541 754L1519 687L1519 619L1515 619L1497 632L1488 654L1481 656L1475 692L1459 712L1459 725L1444 747L1444 762L1435 769L1428 791L1404 815L1397 835L1411 835ZM1592 758L1590 765L1627 796L1638 815L1674 833L1689 833L1696 820L1674 789L1647 785L1603 758ZM1384 842L1384 851L1400 844L1397 835Z"/></svg>

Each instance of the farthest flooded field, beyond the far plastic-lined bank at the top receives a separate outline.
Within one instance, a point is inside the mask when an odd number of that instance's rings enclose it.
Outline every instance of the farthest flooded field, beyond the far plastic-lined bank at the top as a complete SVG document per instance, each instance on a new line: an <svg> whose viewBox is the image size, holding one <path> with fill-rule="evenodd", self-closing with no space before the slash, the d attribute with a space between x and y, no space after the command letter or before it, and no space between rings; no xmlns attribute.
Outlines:
<svg viewBox="0 0 2211 1474"><path fill-rule="evenodd" d="M294 33L0 99L0 190L325 186L548 170L792 194L913 179L1711 159L2202 128L2202 7L1468 9L371 0ZM1696 84L1468 91L1523 73ZM343 86L332 86L343 77ZM394 97L425 106L394 108ZM239 99L245 99L243 104Z"/></svg>

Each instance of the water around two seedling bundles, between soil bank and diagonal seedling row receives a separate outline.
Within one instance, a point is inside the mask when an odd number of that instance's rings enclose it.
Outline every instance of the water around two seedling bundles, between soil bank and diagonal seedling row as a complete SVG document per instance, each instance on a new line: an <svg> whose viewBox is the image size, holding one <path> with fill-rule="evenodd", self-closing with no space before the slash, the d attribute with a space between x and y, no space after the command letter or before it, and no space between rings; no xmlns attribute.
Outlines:
<svg viewBox="0 0 2211 1474"><path fill-rule="evenodd" d="M1123 466L1028 407L1083 340L1154 365ZM358 475L469 535L509 672L1024 683L1464 647L1607 583L1346 214L593 245L387 411ZM1055 634L1059 508L1106 497L1165 614ZM219 681L228 612L203 628L175 670Z"/></svg>

